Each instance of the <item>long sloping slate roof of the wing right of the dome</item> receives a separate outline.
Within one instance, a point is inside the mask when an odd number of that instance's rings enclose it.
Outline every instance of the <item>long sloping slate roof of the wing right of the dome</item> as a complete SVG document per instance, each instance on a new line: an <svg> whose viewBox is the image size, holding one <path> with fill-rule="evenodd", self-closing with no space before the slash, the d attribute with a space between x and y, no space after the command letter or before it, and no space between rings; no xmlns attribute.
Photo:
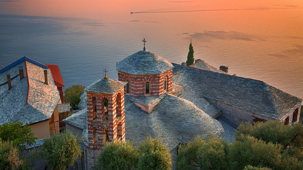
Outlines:
<svg viewBox="0 0 303 170"><path fill-rule="evenodd" d="M231 76L173 64L173 83L183 86L182 97L199 107L211 99L230 106L282 120L302 99L259 80ZM177 73L177 74L176 74ZM194 96L195 95L195 96ZM201 101L195 101L201 99ZM211 104L210 104L211 105ZM204 108L201 108L203 111Z"/></svg>

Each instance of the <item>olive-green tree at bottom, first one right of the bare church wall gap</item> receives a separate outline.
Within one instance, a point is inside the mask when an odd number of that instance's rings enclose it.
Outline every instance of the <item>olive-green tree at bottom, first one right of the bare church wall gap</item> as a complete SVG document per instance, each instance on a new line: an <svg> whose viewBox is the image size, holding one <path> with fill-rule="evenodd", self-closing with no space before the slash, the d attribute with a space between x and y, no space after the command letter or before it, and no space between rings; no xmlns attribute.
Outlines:
<svg viewBox="0 0 303 170"><path fill-rule="evenodd" d="M227 142L211 134L209 138L195 137L187 145L180 146L177 155L178 169L226 169Z"/></svg>

